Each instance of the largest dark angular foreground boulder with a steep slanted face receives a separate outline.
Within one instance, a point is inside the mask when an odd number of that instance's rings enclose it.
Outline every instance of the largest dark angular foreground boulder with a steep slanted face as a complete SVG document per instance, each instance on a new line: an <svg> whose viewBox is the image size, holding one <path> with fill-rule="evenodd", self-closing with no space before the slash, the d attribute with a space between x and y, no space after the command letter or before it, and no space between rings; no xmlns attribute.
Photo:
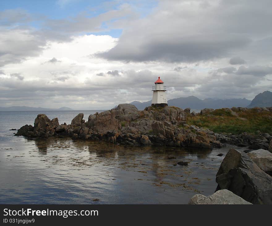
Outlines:
<svg viewBox="0 0 272 226"><path fill-rule="evenodd" d="M272 177L247 154L230 149L216 174L216 190L228 189L253 204L272 204Z"/></svg>

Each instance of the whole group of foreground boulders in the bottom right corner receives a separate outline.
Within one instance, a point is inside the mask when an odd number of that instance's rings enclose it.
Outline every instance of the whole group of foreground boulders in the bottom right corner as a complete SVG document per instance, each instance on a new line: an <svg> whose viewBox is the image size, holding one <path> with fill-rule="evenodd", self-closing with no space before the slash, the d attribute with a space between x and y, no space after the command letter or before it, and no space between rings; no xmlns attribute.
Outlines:
<svg viewBox="0 0 272 226"><path fill-rule="evenodd" d="M189 204L272 204L272 153L230 149L216 174L216 192L196 194Z"/></svg>

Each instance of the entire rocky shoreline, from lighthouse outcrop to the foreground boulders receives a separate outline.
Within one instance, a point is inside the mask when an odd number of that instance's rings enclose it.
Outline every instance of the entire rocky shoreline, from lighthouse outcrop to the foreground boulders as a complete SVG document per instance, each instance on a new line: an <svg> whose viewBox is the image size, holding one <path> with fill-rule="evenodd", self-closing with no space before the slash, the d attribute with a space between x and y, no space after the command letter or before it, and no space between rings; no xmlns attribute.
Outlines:
<svg viewBox="0 0 272 226"><path fill-rule="evenodd" d="M250 150L245 151L230 149L216 175L216 192L208 197L197 194L189 204L272 204L272 136L261 132L257 135L218 134L186 123L188 117L211 111L213 109L203 109L196 114L173 106L138 111L134 105L119 104L110 111L89 115L87 122L80 113L68 125L39 114L34 127L25 125L15 135L104 140L121 145L212 148L227 143L249 146ZM186 163L177 164L186 167Z"/></svg>

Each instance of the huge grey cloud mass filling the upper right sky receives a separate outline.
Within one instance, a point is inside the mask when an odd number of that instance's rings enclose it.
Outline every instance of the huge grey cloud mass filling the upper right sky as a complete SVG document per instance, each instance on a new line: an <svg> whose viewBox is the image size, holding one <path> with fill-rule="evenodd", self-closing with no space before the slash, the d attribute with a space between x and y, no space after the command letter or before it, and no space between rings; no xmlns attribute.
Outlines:
<svg viewBox="0 0 272 226"><path fill-rule="evenodd" d="M118 44L97 56L124 62L195 62L231 57L271 37L271 1L160 1L132 21ZM254 40L254 41L253 41ZM237 62L233 62L237 63Z"/></svg>

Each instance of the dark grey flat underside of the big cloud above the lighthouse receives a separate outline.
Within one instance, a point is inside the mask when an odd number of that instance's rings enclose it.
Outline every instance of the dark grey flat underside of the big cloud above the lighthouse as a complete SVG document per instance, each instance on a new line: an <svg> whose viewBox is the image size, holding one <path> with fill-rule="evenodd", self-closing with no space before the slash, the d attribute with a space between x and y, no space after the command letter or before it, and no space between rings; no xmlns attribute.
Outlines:
<svg viewBox="0 0 272 226"><path fill-rule="evenodd" d="M171 37L169 35L169 37ZM131 38L132 39L132 38ZM178 41L168 39L162 40L147 40L148 43L137 43L136 47L122 45L122 39L116 47L105 53L96 54L108 60L121 60L121 61L135 61L135 62L150 62L150 61L163 61L163 62L194 62L199 60L210 60L219 57L224 57L229 50L241 48L249 43L247 37L185 37L184 39L178 38ZM217 39L218 42L212 41ZM145 41L145 42L147 42ZM136 44L136 45L137 45Z"/></svg>

